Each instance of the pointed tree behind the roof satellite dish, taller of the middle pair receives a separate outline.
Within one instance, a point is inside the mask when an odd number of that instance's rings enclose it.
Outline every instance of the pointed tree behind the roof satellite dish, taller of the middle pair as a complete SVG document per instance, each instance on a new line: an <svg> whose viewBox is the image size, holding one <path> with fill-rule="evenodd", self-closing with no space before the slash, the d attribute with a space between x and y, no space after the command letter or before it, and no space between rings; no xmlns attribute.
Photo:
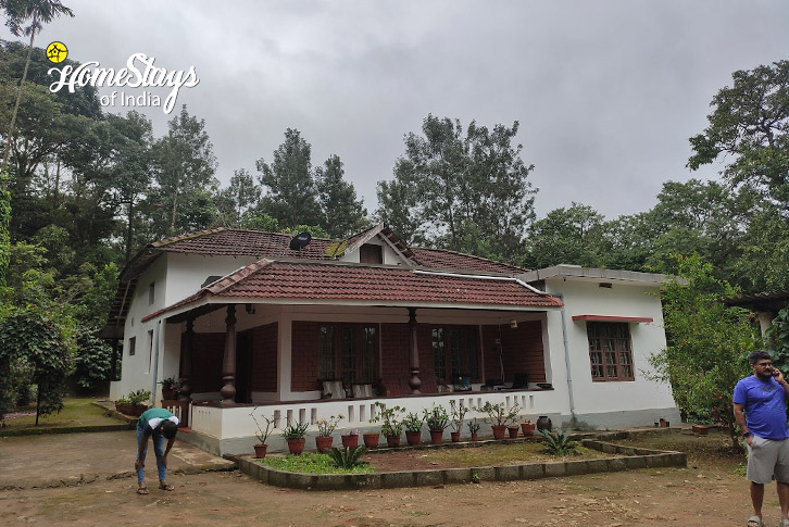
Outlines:
<svg viewBox="0 0 789 527"><path fill-rule="evenodd" d="M283 227L321 223L311 151L312 146L301 133L288 128L272 162L266 163L263 158L258 160L259 179L266 188L259 212L276 218Z"/></svg>

